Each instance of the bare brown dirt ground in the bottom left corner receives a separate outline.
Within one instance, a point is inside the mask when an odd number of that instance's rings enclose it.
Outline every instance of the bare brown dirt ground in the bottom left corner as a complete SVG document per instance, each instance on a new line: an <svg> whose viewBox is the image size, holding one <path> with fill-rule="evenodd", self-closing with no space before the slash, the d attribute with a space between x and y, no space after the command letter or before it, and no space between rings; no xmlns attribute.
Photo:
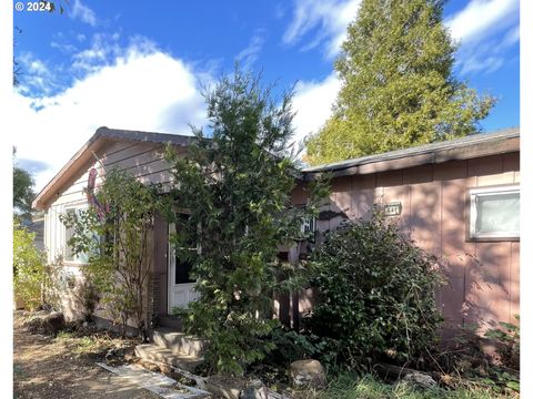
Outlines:
<svg viewBox="0 0 533 399"><path fill-rule="evenodd" d="M93 357L73 354L68 339L30 335L21 315L13 319L14 398L159 398L100 368Z"/></svg>

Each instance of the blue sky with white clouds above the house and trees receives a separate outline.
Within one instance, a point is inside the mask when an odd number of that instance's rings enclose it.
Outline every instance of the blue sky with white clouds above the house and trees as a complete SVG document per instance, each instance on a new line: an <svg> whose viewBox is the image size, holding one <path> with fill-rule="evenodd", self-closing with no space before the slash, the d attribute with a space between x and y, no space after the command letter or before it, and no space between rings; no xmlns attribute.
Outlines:
<svg viewBox="0 0 533 399"><path fill-rule="evenodd" d="M13 11L19 163L41 188L101 125L189 134L188 123L204 123L200 85L235 60L280 91L296 84L302 139L330 114L333 62L359 3L70 0L62 16ZM452 0L444 10L461 43L456 76L499 99L483 129L519 125L519 0Z"/></svg>

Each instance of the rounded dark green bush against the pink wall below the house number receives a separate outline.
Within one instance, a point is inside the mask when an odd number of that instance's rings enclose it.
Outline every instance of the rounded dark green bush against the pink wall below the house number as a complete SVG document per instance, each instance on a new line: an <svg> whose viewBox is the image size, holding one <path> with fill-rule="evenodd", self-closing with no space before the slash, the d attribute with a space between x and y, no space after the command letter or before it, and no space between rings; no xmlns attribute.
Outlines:
<svg viewBox="0 0 533 399"><path fill-rule="evenodd" d="M376 214L343 224L311 255L318 304L305 320L325 338L326 362L365 369L386 357L404 364L438 341L443 320L436 258ZM333 352L333 356L332 354Z"/></svg>

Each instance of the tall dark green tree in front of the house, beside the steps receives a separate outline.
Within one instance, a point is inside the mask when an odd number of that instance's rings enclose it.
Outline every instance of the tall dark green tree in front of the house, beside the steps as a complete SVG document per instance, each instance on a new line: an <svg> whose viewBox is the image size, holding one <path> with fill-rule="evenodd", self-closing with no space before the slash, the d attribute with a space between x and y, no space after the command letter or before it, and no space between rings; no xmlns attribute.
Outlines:
<svg viewBox="0 0 533 399"><path fill-rule="evenodd" d="M205 93L210 123L194 129L187 156L169 152L177 182L167 211L177 226L171 239L192 264L200 294L182 313L184 326L209 339L205 360L220 372L242 374L274 348L263 339L278 325L272 296L298 280L280 283L296 270L278 250L302 238L302 221L324 193L319 184L308 207L291 207L291 99L278 102L260 78L237 69Z"/></svg>

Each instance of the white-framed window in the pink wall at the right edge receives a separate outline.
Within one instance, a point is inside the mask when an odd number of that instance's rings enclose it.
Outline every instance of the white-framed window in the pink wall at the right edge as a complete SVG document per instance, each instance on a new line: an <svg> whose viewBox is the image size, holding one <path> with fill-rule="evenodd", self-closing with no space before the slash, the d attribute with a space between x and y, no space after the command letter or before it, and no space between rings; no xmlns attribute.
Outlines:
<svg viewBox="0 0 533 399"><path fill-rule="evenodd" d="M520 188L502 186L470 192L471 238L520 237Z"/></svg>

